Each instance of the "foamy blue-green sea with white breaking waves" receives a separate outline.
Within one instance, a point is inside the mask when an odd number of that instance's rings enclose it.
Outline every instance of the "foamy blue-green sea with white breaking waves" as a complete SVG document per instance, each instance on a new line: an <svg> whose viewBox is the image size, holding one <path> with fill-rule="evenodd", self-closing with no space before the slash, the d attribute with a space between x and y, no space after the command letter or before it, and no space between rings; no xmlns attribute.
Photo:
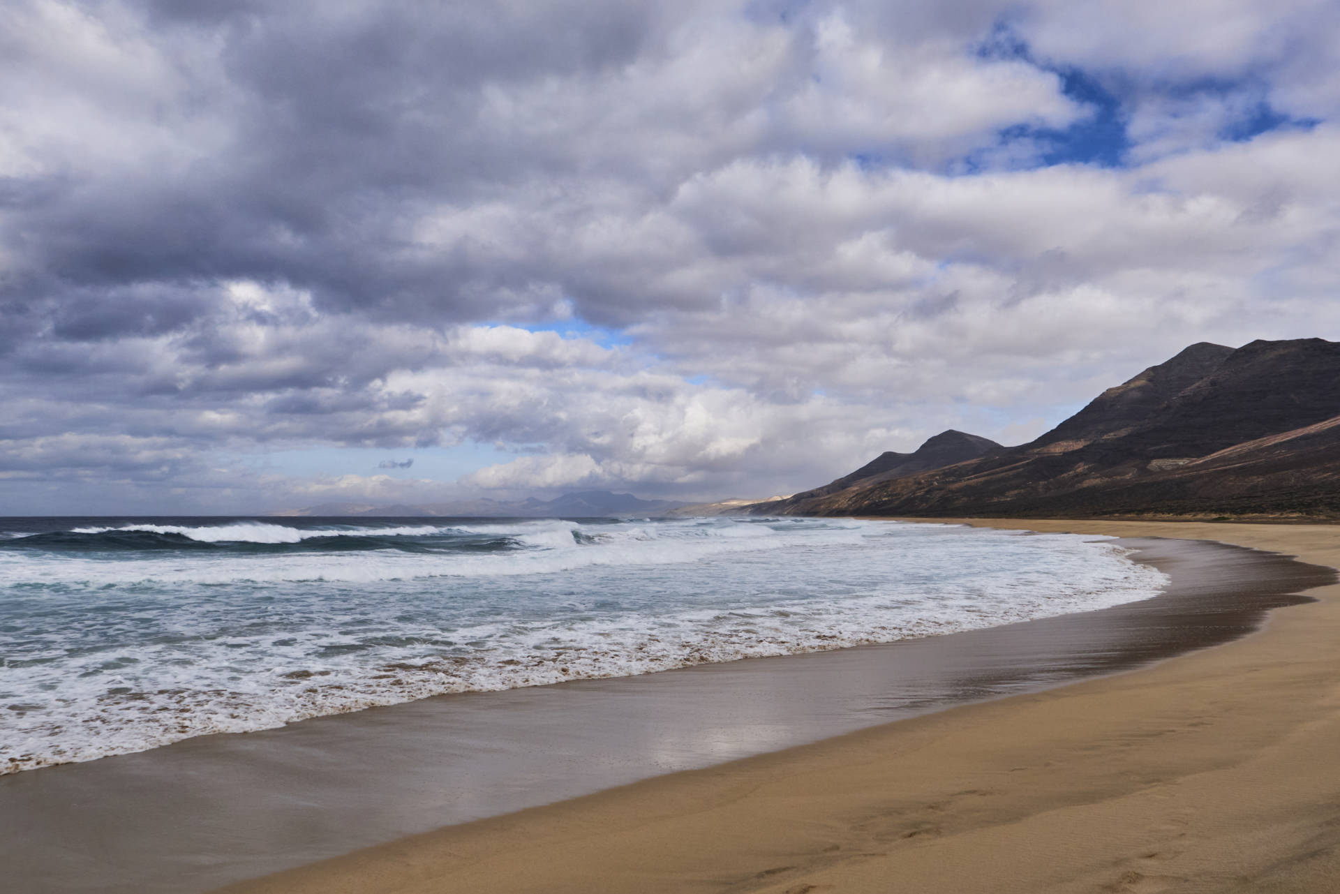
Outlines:
<svg viewBox="0 0 1340 894"><path fill-rule="evenodd" d="M0 519L0 773L1156 595L1104 539L852 519Z"/></svg>

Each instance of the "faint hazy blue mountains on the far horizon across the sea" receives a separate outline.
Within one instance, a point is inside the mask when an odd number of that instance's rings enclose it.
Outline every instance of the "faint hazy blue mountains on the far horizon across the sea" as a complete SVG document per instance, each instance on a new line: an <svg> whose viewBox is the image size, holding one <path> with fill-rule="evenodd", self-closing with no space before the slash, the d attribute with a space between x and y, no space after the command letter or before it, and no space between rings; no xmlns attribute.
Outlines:
<svg viewBox="0 0 1340 894"><path fill-rule="evenodd" d="M454 503L375 505L367 503L322 503L306 509L273 512L275 516L454 516L521 519L599 519L606 516L665 515L685 505L667 500L641 500L631 493L578 491L553 500L458 500Z"/></svg>

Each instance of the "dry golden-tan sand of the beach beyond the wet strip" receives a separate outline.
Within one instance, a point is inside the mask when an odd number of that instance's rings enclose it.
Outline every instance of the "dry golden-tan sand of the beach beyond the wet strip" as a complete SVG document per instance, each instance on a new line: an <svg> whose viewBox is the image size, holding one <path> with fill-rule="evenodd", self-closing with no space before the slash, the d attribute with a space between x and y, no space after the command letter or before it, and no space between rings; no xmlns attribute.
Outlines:
<svg viewBox="0 0 1340 894"><path fill-rule="evenodd" d="M1340 527L988 521L1340 567ZM236 893L1340 891L1340 586L1135 673L454 826ZM356 823L356 816L350 816Z"/></svg>

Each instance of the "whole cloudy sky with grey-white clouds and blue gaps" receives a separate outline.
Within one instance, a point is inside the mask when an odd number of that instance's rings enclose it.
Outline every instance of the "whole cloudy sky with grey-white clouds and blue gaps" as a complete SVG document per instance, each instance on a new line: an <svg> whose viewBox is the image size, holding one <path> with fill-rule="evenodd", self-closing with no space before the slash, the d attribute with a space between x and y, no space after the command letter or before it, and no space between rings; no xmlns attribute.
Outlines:
<svg viewBox="0 0 1340 894"><path fill-rule="evenodd" d="M1340 338L1336 0L5 0L0 515L761 497Z"/></svg>

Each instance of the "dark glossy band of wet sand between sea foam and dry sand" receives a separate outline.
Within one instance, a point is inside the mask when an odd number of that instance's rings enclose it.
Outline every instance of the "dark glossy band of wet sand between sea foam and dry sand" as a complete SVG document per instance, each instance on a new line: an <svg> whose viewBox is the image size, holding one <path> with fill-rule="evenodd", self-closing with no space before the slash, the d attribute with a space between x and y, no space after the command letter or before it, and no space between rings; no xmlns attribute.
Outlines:
<svg viewBox="0 0 1340 894"><path fill-rule="evenodd" d="M0 779L15 890L200 891L445 824L1112 673L1254 629L1333 572L1126 546L1140 603L887 646L445 696ZM351 822L350 818L356 820Z"/></svg>

